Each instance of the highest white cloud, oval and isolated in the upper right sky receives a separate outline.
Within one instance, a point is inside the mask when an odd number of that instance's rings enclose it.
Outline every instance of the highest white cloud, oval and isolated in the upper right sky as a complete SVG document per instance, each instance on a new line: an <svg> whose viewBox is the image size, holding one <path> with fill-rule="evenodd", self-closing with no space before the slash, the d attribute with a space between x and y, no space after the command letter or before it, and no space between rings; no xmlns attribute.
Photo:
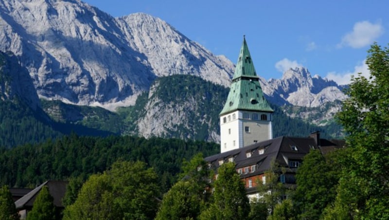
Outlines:
<svg viewBox="0 0 389 220"><path fill-rule="evenodd" d="M361 48L370 45L383 33L384 27L381 23L372 24L366 20L356 22L353 31L343 36L337 47L350 46L352 48Z"/></svg>

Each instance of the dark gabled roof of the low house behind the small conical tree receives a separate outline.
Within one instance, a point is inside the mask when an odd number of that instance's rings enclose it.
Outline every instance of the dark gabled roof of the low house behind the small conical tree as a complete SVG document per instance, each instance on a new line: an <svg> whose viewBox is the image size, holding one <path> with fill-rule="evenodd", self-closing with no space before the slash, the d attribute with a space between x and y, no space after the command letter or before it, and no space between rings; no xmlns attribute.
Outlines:
<svg viewBox="0 0 389 220"><path fill-rule="evenodd" d="M32 207L33 203L35 202L36 196L40 192L40 189L46 185L49 188L50 195L52 195L54 198L54 205L57 207L64 207L62 204L62 198L65 196L67 184L67 181L46 181L45 183L42 183L32 191L27 193L22 198L18 199L18 201L15 202L15 206L17 209L22 209L26 206Z"/></svg>

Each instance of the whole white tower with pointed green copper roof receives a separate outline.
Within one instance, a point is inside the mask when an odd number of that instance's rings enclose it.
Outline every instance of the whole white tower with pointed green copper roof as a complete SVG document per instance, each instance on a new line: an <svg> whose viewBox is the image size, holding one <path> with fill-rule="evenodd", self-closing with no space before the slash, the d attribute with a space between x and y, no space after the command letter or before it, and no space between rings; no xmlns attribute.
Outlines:
<svg viewBox="0 0 389 220"><path fill-rule="evenodd" d="M230 93L220 112L221 153L273 138L271 116L243 37Z"/></svg>

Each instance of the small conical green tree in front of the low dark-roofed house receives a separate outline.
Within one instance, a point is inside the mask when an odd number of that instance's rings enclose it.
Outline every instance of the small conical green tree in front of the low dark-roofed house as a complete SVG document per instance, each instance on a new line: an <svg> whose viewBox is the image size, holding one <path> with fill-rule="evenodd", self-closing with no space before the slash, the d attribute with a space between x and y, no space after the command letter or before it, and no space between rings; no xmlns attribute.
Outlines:
<svg viewBox="0 0 389 220"><path fill-rule="evenodd" d="M43 186L36 197L33 209L27 215L27 220L55 220L55 206L49 188Z"/></svg>

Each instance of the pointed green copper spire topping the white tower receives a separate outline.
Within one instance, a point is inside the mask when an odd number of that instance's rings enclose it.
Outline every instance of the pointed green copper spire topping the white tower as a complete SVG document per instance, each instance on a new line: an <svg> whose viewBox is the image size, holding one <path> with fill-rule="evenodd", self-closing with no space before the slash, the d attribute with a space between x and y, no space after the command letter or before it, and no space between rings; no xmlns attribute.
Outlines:
<svg viewBox="0 0 389 220"><path fill-rule="evenodd" d="M258 79L259 77L255 72L254 64L248 51L246 38L243 37L235 73L232 77L230 93L220 115L235 110L273 112L265 99Z"/></svg>

